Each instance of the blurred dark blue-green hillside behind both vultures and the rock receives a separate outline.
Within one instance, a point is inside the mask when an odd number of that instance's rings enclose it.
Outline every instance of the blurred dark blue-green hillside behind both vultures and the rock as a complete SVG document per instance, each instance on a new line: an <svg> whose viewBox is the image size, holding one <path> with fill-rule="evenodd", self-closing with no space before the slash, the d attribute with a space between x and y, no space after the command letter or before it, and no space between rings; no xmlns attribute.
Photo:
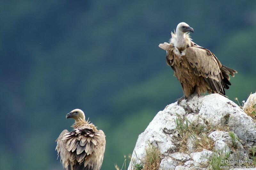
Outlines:
<svg viewBox="0 0 256 170"><path fill-rule="evenodd" d="M256 89L256 1L0 1L0 169L62 169L55 139L75 108L106 134L103 170L123 163L159 110L183 96L165 63L179 22Z"/></svg>

